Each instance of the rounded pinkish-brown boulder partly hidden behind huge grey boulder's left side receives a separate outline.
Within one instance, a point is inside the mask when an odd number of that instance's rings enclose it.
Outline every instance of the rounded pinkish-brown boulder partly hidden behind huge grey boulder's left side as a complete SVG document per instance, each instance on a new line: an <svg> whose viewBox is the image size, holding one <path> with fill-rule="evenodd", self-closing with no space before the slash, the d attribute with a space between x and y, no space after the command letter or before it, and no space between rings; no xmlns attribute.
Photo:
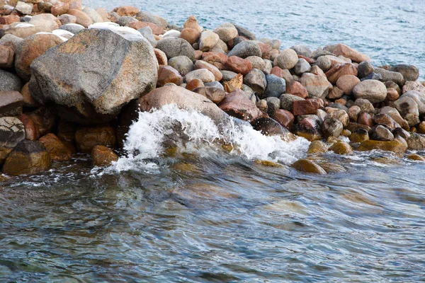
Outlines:
<svg viewBox="0 0 425 283"><path fill-rule="evenodd" d="M30 64L51 47L62 43L57 35L35 34L23 40L16 52L15 69L23 81L30 81Z"/></svg>

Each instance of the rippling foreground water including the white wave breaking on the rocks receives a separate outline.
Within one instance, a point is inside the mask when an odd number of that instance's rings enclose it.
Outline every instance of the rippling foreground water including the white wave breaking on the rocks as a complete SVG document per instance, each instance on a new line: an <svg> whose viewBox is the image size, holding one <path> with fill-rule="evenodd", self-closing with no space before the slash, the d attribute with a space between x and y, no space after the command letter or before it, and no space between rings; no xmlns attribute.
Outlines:
<svg viewBox="0 0 425 283"><path fill-rule="evenodd" d="M304 139L210 123L171 106L141 113L110 168L79 155L1 183L0 282L424 279L425 163L328 153L317 163L335 173L298 173L288 164Z"/></svg>

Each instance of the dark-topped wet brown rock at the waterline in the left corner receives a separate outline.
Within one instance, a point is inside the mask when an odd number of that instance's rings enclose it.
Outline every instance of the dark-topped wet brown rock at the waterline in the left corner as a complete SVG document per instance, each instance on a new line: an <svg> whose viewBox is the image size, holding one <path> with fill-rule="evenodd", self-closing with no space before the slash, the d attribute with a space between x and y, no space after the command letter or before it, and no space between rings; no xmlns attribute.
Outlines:
<svg viewBox="0 0 425 283"><path fill-rule="evenodd" d="M1 171L8 175L37 174L51 168L50 156L40 141L20 141L8 154Z"/></svg>

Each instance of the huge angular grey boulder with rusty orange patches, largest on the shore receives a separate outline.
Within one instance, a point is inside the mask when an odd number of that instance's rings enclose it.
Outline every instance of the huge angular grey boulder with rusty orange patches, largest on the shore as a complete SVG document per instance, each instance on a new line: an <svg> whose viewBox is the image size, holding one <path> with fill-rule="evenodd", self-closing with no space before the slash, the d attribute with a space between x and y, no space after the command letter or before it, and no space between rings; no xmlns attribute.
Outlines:
<svg viewBox="0 0 425 283"><path fill-rule="evenodd" d="M154 56L145 39L83 30L35 59L30 93L40 103L54 102L65 120L105 122L156 86Z"/></svg>

